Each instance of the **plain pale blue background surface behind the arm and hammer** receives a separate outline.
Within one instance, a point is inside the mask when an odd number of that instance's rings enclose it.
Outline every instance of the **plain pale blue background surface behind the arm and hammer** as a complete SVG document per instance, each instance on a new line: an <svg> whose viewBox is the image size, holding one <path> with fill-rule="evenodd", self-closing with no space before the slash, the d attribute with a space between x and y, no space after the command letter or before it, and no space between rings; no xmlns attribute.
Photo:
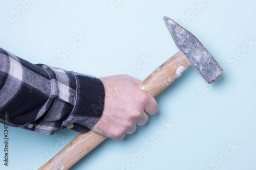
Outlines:
<svg viewBox="0 0 256 170"><path fill-rule="evenodd" d="M0 2L0 46L32 63L56 61L60 68L104 77L135 69L140 56L147 56L151 60L134 75L143 80L178 51L162 20L166 15L193 33L225 68L213 85L189 68L156 97L159 111L145 126L121 141L105 140L71 169L256 168L255 1L119 0L114 8L109 0L36 1L25 11L20 2ZM22 14L7 24L17 8ZM58 52L80 34L87 38L66 59L59 58ZM232 57L237 53L241 57ZM173 125L166 133L163 122ZM0 125L1 138L3 132ZM49 160L47 154L54 156L77 135L9 127L9 166L1 156L0 168L37 169ZM149 138L155 135L157 142ZM232 144L238 148L229 148ZM1 142L1 155L3 148ZM144 152L138 157L140 148Z"/></svg>

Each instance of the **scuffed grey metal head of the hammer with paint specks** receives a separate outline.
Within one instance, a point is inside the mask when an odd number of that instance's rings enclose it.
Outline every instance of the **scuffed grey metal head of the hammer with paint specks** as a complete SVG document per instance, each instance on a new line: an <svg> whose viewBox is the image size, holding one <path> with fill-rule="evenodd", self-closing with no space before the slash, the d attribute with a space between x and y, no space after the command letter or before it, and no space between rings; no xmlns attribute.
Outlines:
<svg viewBox="0 0 256 170"><path fill-rule="evenodd" d="M212 83L220 77L223 69L202 43L174 20L166 16L163 19L179 50L189 59L205 82Z"/></svg>

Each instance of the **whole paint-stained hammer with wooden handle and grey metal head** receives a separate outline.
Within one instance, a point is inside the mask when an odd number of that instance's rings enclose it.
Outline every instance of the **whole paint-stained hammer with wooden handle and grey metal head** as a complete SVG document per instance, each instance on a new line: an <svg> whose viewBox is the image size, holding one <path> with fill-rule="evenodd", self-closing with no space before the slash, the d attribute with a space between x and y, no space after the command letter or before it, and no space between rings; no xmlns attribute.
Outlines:
<svg viewBox="0 0 256 170"><path fill-rule="evenodd" d="M207 83L212 83L220 77L223 69L202 43L174 20L166 16L163 17L163 20L180 51L154 70L139 87L155 97L191 65ZM104 139L106 139L105 136L91 130L80 133L39 169L69 169Z"/></svg>

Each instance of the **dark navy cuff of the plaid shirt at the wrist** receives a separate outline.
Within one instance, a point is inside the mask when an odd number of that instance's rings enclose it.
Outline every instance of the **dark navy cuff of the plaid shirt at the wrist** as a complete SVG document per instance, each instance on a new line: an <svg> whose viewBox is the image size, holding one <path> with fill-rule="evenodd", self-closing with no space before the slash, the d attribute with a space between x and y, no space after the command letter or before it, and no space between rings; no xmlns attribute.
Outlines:
<svg viewBox="0 0 256 170"><path fill-rule="evenodd" d="M74 107L76 119L73 130L84 132L92 128L102 115L104 108L104 86L95 77L74 72L77 81L77 99ZM79 116L78 116L79 115Z"/></svg>

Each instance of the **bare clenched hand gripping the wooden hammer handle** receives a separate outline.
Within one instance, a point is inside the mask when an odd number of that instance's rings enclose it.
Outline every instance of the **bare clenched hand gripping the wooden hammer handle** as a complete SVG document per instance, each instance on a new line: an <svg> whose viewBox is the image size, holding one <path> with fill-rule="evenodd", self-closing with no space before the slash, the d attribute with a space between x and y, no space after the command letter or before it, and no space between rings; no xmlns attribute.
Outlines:
<svg viewBox="0 0 256 170"><path fill-rule="evenodd" d="M135 132L136 125L145 125L147 114L156 114L158 105L150 94L141 90L140 80L126 75L100 78L105 89L104 109L91 128L106 137L120 140Z"/></svg>

